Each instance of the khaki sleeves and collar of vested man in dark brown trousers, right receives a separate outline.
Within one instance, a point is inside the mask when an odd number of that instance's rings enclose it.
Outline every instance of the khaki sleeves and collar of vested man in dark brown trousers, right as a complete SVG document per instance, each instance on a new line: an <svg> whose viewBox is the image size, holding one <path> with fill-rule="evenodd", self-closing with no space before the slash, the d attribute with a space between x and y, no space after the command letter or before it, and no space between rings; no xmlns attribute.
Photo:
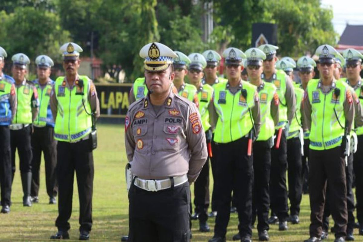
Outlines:
<svg viewBox="0 0 363 242"><path fill-rule="evenodd" d="M333 78L333 82L331 82L330 86L323 86L321 80L318 84L318 89L321 89L323 93L329 93L330 91L334 90L336 80ZM334 83L334 84L333 84ZM350 98L351 99L351 98ZM343 103L344 109L344 116L347 122L348 132L351 131L352 122L354 119L354 105L352 100L346 98L345 102ZM303 113L304 113L304 125L308 130L311 130L311 103L309 101L309 94L305 91L305 97L303 100ZM344 124L343 124L344 125Z"/></svg>

